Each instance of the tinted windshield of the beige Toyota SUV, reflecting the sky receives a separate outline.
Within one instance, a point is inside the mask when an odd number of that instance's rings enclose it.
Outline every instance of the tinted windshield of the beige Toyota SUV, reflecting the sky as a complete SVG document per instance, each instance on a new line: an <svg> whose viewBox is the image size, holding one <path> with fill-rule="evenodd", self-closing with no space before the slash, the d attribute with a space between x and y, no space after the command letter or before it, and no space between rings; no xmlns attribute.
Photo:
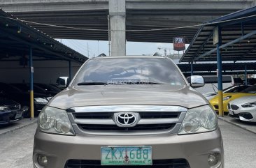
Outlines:
<svg viewBox="0 0 256 168"><path fill-rule="evenodd" d="M73 84L83 82L185 85L173 62L162 58L92 59L85 63Z"/></svg>

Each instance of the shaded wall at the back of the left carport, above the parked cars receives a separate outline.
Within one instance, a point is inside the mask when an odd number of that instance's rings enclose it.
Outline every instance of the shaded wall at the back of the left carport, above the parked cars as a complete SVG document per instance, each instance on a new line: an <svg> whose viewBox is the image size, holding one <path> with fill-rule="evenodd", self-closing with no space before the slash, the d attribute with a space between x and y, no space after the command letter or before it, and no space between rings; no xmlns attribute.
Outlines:
<svg viewBox="0 0 256 168"><path fill-rule="evenodd" d="M55 84L57 77L69 76L68 61L34 61L34 82ZM76 74L81 64L71 63L71 75ZM20 61L0 61L0 82L29 82L29 66L20 66Z"/></svg>

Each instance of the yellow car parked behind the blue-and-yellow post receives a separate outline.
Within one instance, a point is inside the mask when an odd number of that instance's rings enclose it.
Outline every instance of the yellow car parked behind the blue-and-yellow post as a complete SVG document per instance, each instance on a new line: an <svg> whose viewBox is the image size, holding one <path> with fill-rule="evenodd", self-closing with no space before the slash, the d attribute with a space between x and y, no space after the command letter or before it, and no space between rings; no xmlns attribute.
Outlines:
<svg viewBox="0 0 256 168"><path fill-rule="evenodd" d="M227 109L227 104L229 103L229 101L234 100L236 98L241 98L243 96L252 96L252 95L255 95L255 93L223 93L223 112L229 112L229 109ZM219 111L218 95L214 96L209 102L213 106L213 109L216 112L218 112Z"/></svg>

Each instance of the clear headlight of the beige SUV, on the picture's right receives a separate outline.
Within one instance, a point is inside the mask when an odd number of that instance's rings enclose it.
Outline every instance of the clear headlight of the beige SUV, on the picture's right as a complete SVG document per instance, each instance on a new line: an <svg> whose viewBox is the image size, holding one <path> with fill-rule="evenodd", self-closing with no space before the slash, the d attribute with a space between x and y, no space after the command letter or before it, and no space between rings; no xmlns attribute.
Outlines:
<svg viewBox="0 0 256 168"><path fill-rule="evenodd" d="M217 116L210 106L188 109L178 135L213 131L216 125Z"/></svg>

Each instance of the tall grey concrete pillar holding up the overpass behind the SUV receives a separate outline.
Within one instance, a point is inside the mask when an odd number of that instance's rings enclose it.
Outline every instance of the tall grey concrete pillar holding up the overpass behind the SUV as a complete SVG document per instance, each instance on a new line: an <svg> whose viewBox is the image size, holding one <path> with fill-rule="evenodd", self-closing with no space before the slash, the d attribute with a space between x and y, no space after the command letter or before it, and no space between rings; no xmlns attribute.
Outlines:
<svg viewBox="0 0 256 168"><path fill-rule="evenodd" d="M125 0L109 0L108 6L111 27L111 56L125 56Z"/></svg>

